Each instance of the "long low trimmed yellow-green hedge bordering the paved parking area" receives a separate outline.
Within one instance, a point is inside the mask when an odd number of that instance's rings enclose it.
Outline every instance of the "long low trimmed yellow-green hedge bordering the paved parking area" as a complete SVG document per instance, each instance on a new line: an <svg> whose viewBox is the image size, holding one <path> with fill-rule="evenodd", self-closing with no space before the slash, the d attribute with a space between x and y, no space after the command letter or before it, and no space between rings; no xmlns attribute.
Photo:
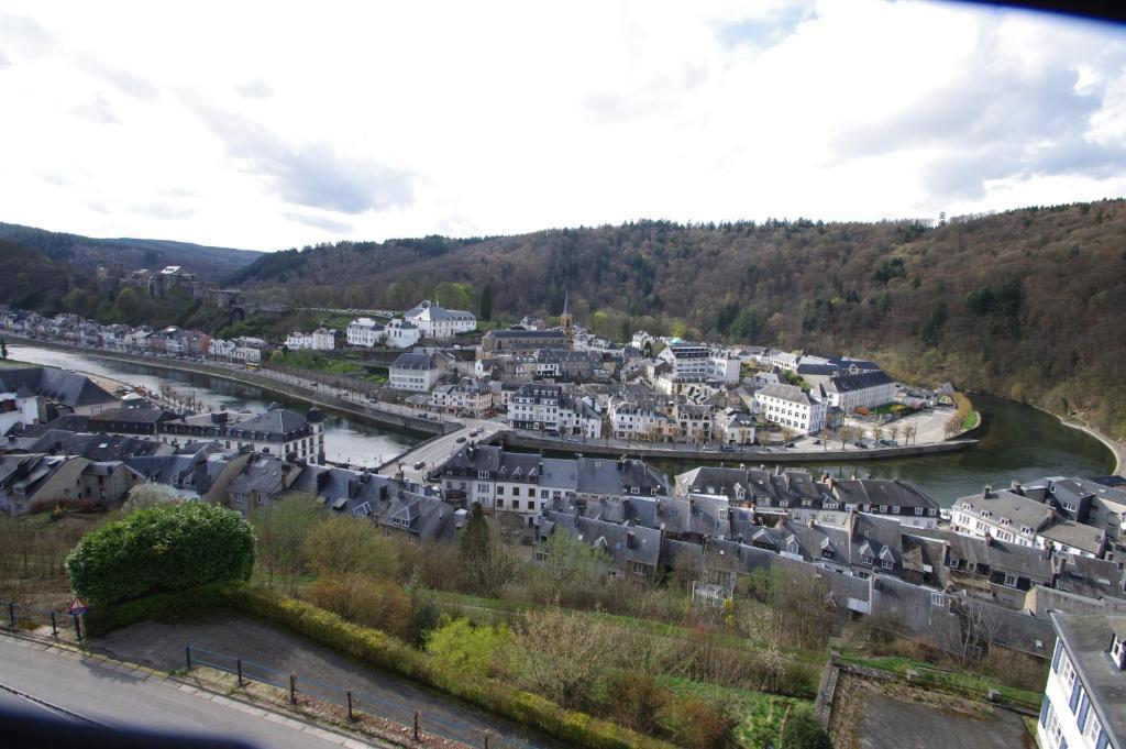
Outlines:
<svg viewBox="0 0 1126 749"><path fill-rule="evenodd" d="M429 656L378 630L351 624L302 600L247 583L202 586L151 596L108 609L91 609L91 635L150 618L188 610L232 608L295 632L382 669L464 699L491 713L529 725L568 743L596 749L664 749L671 744L584 713L564 710L543 697L495 679L468 677L444 668Z"/></svg>

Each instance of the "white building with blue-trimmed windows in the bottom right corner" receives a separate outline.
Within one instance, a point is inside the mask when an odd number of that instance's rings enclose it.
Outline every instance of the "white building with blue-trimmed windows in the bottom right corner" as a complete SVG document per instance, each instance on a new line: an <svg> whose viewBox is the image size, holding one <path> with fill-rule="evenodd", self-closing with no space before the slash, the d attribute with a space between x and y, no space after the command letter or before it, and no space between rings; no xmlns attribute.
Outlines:
<svg viewBox="0 0 1126 749"><path fill-rule="evenodd" d="M1057 639L1036 742L1040 749L1123 749L1126 616L1048 617Z"/></svg>

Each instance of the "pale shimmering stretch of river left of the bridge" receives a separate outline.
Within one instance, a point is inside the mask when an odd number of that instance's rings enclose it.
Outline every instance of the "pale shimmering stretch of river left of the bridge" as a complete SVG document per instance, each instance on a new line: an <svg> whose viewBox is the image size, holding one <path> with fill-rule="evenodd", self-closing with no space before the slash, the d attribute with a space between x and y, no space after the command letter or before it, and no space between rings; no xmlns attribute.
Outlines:
<svg viewBox="0 0 1126 749"><path fill-rule="evenodd" d="M19 344L9 344L8 355L19 362L104 375L132 385L144 385L158 392L161 385L170 385L178 393L186 396L190 394L215 410L258 413L265 411L272 402L300 413L309 410L307 403L282 393L267 392L253 385L194 372L164 369ZM382 429L330 409L325 409L324 416L324 453L325 457L333 462L374 467L421 442L418 437Z"/></svg>

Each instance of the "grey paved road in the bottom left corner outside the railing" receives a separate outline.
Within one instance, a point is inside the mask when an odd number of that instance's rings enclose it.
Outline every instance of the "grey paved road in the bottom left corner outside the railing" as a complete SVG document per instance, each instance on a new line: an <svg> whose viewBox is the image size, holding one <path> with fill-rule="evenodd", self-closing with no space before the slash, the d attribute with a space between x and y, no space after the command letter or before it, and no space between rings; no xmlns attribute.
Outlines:
<svg viewBox="0 0 1126 749"><path fill-rule="evenodd" d="M345 738L300 721L223 697L181 687L143 671L82 658L75 653L26 647L0 635L0 684L64 707L99 723L218 734L258 747L339 749ZM0 705L45 714L45 708L11 693ZM351 741L349 746L360 747Z"/></svg>

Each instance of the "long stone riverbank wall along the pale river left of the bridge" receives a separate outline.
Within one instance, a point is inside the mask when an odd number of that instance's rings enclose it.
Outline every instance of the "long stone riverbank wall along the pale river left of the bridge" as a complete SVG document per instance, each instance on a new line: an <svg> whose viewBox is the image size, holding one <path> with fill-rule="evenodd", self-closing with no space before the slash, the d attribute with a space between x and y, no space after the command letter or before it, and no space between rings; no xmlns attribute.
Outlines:
<svg viewBox="0 0 1126 749"><path fill-rule="evenodd" d="M107 351L101 348L82 348L80 346L69 346L57 341L37 340L32 338L20 338L8 336L8 340L24 346L35 346L56 351L75 351L99 359L110 362L122 362L125 364L138 364L154 369L168 369L170 372L191 372L199 375L220 377L243 385L260 387L265 391L286 395L305 401L312 405L319 405L332 411L346 413L349 417L369 421L379 427L388 427L401 431L406 431L419 436L445 435L461 428L461 425L448 421L434 421L431 419L420 419L418 417L403 413L385 411L363 403L356 403L334 395L327 395L318 391L302 387L291 383L278 382L272 377L254 374L253 372L233 371L226 367L204 364L200 362L182 362L179 359L161 359L159 357L142 356L140 354L128 354L125 351Z"/></svg>

